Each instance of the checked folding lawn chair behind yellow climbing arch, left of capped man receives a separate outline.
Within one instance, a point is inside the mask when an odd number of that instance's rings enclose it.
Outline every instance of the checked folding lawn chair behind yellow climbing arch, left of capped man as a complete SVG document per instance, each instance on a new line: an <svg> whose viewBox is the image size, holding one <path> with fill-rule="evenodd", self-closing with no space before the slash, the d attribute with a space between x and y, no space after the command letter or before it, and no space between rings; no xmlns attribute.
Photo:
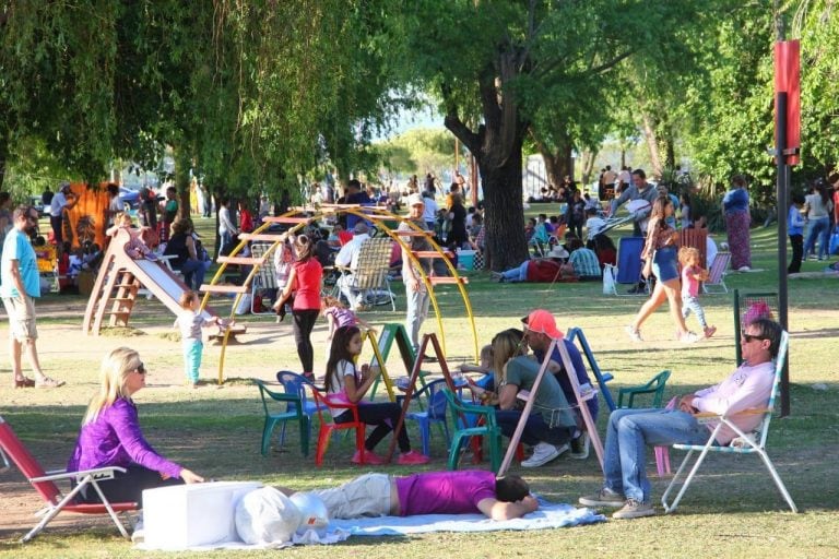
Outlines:
<svg viewBox="0 0 839 559"><path fill-rule="evenodd" d="M370 237L362 243L358 261L354 269L343 270L342 275L352 274L350 286L361 293L364 305L387 305L397 310L397 301L390 289L390 254L392 242L389 237Z"/></svg>

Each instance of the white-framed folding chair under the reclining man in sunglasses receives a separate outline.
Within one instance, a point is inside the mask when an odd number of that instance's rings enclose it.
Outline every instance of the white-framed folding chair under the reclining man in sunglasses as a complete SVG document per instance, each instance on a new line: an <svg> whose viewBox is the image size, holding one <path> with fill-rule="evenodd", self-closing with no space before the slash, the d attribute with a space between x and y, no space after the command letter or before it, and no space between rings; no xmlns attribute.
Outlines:
<svg viewBox="0 0 839 559"><path fill-rule="evenodd" d="M680 450L686 450L687 455L682 461L682 465L678 466L678 469L676 471L676 475L673 476L673 479L670 481L670 485L667 486L667 489L664 491L664 495L661 496L661 503L664 506L664 510L666 512L673 512L676 510L676 507L678 507L678 501L682 499L682 496L685 495L685 491L687 490L687 487L690 485L690 481L694 479L694 475L699 469L699 466L702 464L702 461L705 460L705 456L709 452L719 452L723 455L731 455L731 454L757 454L760 456L760 459L764 461L764 464L766 465L767 469L769 471L769 474L772 476L772 479L775 480L775 485L778 487L778 490L781 492L783 498L787 500L787 504L790 506L790 509L792 509L792 512L799 512L799 510L795 507L795 503L792 501L792 497L790 497L789 491L787 491L787 487L783 485L783 481L781 481L781 477L778 475L778 472L775 469L775 465L772 464L772 461L769 460L769 455L766 453L766 439L769 436L769 421L772 418L772 409L775 408L775 399L778 395L778 389L780 386L781 381L781 371L783 370L784 360L787 359L787 352L789 349L790 344L790 337L787 332L783 332L781 334L781 344L778 349L778 357L775 360L775 382L772 383L772 391L769 396L769 403L767 404L765 409L749 409L745 412L741 412L741 414L763 414L764 418L760 425L757 426L756 430L753 433L745 433L740 428L737 428L736 425L734 425L731 421L730 416L718 416L713 414L697 414L697 417L702 417L705 421L708 423L717 423L717 427L713 429L713 432L711 432L711 436L708 438L708 442L702 444L674 444L674 449ZM717 437L717 433L720 432L720 429L722 429L722 426L726 426L731 428L734 432L737 433L737 438L732 441L731 444L726 447L720 447L717 444L714 438ZM667 496L670 495L671 490L676 486L677 480L680 478L680 475L685 469L687 464L690 462L690 459L693 457L694 453L699 453L699 456L696 459L696 462L694 463L694 466L690 468L690 473L687 475L687 478L682 484L682 488L680 489L678 493L676 495L676 498L673 500L672 503L667 503Z"/></svg>

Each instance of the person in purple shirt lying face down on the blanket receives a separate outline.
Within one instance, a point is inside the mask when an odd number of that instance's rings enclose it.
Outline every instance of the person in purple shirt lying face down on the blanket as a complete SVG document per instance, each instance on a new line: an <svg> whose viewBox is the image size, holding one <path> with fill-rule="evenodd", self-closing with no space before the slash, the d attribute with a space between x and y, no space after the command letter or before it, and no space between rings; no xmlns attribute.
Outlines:
<svg viewBox="0 0 839 559"><path fill-rule="evenodd" d="M277 487L285 495L296 491ZM327 506L330 519L483 513L510 520L539 509L530 486L519 476L492 472L425 472L406 477L365 474L333 489L308 491Z"/></svg>

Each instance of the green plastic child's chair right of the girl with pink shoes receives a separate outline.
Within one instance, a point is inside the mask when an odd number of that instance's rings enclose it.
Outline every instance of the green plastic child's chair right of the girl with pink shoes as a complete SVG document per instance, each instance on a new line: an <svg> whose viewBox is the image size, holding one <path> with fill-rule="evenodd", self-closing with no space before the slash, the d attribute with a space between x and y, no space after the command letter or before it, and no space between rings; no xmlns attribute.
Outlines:
<svg viewBox="0 0 839 559"><path fill-rule="evenodd" d="M489 445L491 468L493 472L498 472L501 466L501 429L495 420L495 408L465 404L447 386L442 388L442 394L451 407L456 426L449 445L449 469L458 469L461 444L464 440L471 437L483 437L485 444ZM484 419L484 425L477 425L481 418Z"/></svg>

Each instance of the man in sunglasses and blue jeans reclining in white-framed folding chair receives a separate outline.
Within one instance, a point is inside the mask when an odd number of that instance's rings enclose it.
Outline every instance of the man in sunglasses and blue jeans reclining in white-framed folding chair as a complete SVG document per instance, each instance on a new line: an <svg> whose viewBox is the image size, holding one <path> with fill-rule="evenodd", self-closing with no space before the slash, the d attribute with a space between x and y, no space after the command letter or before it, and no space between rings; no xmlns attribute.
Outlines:
<svg viewBox="0 0 839 559"><path fill-rule="evenodd" d="M696 414L710 412L731 418L743 432L753 431L763 414L742 414L764 408L775 382L775 365L781 344L781 326L769 319L746 325L740 340L743 364L719 384L686 394L677 409L615 409L608 417L603 469L603 488L580 497L587 507L623 507L614 519L636 519L655 514L650 500L650 481L645 471L645 445L705 444L716 425L702 425ZM726 426L717 436L721 447L736 433Z"/></svg>

